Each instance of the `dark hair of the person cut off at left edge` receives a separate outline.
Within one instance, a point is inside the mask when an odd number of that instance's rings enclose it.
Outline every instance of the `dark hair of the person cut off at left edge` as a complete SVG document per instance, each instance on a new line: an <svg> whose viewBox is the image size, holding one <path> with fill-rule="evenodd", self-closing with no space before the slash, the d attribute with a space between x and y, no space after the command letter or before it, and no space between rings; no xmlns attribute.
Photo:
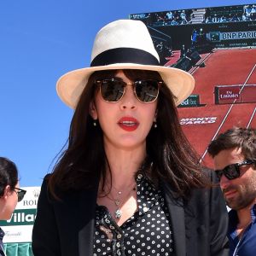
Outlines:
<svg viewBox="0 0 256 256"><path fill-rule="evenodd" d="M15 163L11 160L0 157L0 197L4 194L6 186L10 186L10 190L14 191L18 183L18 171Z"/></svg>

